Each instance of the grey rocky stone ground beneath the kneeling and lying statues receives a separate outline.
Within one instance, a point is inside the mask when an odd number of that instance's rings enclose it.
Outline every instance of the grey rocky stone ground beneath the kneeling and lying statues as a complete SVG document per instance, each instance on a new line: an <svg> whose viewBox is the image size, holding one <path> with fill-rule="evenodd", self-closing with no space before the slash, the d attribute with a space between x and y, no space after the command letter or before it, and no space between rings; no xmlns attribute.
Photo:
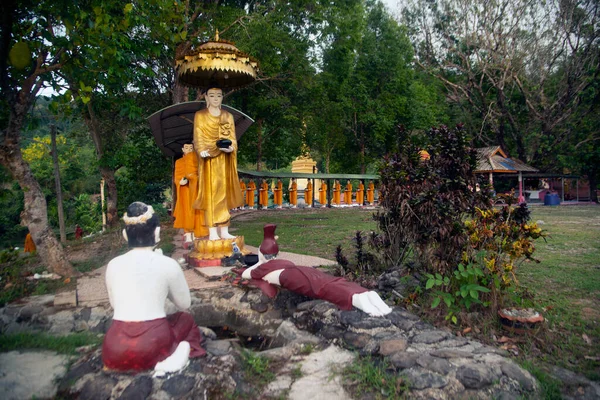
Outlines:
<svg viewBox="0 0 600 400"><path fill-rule="evenodd" d="M102 273L80 279L73 293L34 296L0 309L0 332L102 335L112 314ZM257 289L202 278L194 270L185 274L206 357L192 360L180 373L154 378L104 371L99 348L83 348L78 356L11 351L0 354L0 392L8 393L3 398L375 398L343 379L344 368L359 355L387 360L388 371L408 387L406 398L541 397L539 383L504 350L436 329L403 308L374 318L285 290L272 300ZM261 360L269 360L271 374L261 370L256 356L248 358L249 344ZM554 375L563 382L565 397L600 398L596 383L559 368Z"/></svg>

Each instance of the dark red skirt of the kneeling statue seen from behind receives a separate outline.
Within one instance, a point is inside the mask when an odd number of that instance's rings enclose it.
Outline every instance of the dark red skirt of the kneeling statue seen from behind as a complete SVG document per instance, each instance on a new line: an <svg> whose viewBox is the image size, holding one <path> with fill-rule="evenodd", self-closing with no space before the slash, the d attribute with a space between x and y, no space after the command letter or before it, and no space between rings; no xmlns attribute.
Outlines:
<svg viewBox="0 0 600 400"><path fill-rule="evenodd" d="M144 371L169 357L180 342L189 342L190 358L206 351L200 346L200 329L189 313L143 322L114 320L102 344L102 361L108 369Z"/></svg>

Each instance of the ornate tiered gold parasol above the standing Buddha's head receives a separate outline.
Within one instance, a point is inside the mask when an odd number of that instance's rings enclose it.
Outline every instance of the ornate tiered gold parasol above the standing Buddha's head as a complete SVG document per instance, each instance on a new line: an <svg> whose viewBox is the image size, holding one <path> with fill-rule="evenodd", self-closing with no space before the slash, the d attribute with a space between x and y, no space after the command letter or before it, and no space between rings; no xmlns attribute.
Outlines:
<svg viewBox="0 0 600 400"><path fill-rule="evenodd" d="M254 82L258 61L242 53L235 45L219 39L202 43L195 50L175 60L179 82L209 89L235 89Z"/></svg>

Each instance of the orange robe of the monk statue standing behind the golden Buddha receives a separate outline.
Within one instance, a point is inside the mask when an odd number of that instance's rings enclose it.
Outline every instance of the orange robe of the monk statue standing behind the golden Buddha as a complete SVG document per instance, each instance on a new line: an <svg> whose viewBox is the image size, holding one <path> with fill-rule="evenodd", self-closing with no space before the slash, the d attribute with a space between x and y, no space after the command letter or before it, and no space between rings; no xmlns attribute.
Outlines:
<svg viewBox="0 0 600 400"><path fill-rule="evenodd" d="M182 178L186 178L188 183L181 185ZM186 233L194 232L196 237L208 235L208 229L204 227L202 212L193 208L198 194L198 155L195 152L184 154L175 161L173 181L177 190L173 227L183 228Z"/></svg>

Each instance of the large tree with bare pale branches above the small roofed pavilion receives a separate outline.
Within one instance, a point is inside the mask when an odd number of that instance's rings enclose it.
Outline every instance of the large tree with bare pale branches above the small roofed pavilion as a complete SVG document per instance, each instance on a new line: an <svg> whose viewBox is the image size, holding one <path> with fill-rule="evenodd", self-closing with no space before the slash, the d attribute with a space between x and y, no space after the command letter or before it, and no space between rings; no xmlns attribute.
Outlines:
<svg viewBox="0 0 600 400"><path fill-rule="evenodd" d="M425 0L404 9L419 65L480 144L552 168L600 71L595 0ZM584 107L589 107L584 105Z"/></svg>

